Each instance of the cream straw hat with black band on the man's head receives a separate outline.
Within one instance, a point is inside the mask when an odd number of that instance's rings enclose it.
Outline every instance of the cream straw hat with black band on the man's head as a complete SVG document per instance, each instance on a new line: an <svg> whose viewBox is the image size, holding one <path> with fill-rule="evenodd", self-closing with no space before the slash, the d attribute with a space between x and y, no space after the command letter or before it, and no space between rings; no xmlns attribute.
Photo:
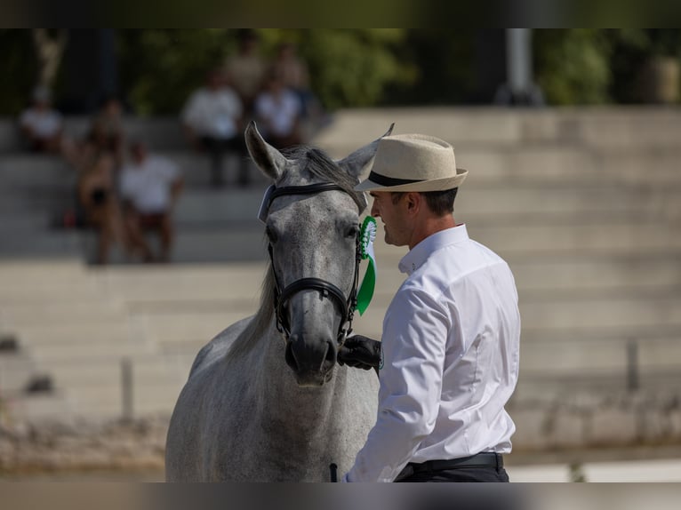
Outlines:
<svg viewBox="0 0 681 510"><path fill-rule="evenodd" d="M454 147L432 136L398 134L379 141L369 178L357 191L444 191L460 187L468 171L456 168Z"/></svg>

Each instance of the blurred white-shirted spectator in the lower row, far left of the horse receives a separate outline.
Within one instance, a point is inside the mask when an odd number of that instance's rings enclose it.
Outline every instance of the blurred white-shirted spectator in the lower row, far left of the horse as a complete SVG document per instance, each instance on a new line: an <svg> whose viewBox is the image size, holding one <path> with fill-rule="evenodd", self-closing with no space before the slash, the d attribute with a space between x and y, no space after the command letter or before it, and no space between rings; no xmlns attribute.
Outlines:
<svg viewBox="0 0 681 510"><path fill-rule="evenodd" d="M120 195L131 250L139 251L145 262L167 262L173 240L172 208L183 186L180 170L167 158L149 155L147 147L140 142L132 144L131 156L120 175ZM156 231L161 237L158 257L147 243L148 231Z"/></svg>

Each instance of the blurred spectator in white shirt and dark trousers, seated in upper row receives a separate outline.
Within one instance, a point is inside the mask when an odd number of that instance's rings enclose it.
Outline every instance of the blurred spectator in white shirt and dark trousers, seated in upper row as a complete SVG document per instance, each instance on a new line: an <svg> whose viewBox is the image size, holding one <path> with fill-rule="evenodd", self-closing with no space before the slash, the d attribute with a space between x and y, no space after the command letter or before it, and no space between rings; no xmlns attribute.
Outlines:
<svg viewBox="0 0 681 510"><path fill-rule="evenodd" d="M243 135L241 100L225 83L222 73L212 70L204 87L189 97L180 115L188 139L197 150L211 156L212 185L223 185L222 162L228 152L239 155L239 183L248 183L248 160Z"/></svg>

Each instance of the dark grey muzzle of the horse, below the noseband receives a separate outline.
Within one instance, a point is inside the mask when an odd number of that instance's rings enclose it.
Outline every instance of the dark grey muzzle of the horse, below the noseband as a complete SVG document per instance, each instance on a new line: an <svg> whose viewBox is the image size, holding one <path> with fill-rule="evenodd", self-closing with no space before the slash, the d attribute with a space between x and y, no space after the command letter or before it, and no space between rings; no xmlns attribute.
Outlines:
<svg viewBox="0 0 681 510"><path fill-rule="evenodd" d="M299 386L322 386L331 380L337 354L335 339L292 334L286 342L286 363Z"/></svg>

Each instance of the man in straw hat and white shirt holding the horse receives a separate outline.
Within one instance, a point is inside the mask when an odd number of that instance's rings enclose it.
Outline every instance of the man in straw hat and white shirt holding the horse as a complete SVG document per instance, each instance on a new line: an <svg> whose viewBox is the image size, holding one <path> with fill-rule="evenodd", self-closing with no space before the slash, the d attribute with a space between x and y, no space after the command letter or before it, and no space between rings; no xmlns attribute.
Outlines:
<svg viewBox="0 0 681 510"><path fill-rule="evenodd" d="M509 266L453 218L468 175L453 147L419 134L381 139L369 178L385 242L408 246L407 277L382 341L346 340L339 363L380 368L379 411L346 482L508 482L520 315ZM382 348L382 356L381 356Z"/></svg>

